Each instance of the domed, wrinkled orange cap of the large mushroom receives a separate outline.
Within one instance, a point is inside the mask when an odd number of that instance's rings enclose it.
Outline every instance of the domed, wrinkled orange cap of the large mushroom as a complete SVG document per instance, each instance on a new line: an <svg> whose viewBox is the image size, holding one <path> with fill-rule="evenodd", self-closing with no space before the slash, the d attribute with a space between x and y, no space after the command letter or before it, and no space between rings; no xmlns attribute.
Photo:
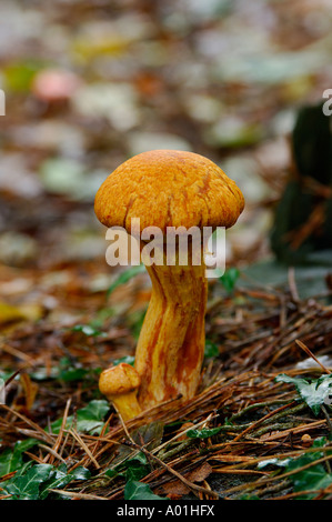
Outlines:
<svg viewBox="0 0 332 522"><path fill-rule="evenodd" d="M244 207L233 180L211 160L178 150L134 155L115 169L94 201L107 227L131 231L131 220L147 227L232 227Z"/></svg>

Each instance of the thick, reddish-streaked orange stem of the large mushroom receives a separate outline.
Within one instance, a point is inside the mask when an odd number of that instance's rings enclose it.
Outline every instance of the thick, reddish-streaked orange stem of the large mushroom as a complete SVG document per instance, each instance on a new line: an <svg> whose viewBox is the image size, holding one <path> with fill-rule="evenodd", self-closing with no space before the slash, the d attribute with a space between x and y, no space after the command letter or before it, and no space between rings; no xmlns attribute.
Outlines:
<svg viewBox="0 0 332 522"><path fill-rule="evenodd" d="M141 378L138 400L144 410L197 391L204 357L208 284L201 264L147 267L152 294L139 338L134 368Z"/></svg>

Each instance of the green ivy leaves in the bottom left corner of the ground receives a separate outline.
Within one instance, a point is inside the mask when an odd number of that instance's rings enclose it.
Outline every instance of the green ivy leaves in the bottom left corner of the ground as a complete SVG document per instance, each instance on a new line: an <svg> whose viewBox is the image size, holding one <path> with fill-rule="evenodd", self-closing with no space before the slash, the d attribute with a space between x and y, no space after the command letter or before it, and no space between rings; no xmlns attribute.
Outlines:
<svg viewBox="0 0 332 522"><path fill-rule="evenodd" d="M90 472L85 468L76 468L67 472L66 464L54 468L51 464L34 464L19 470L14 476L2 483L3 493L12 495L10 500L44 500L50 489L59 489L74 480L87 480Z"/></svg>

